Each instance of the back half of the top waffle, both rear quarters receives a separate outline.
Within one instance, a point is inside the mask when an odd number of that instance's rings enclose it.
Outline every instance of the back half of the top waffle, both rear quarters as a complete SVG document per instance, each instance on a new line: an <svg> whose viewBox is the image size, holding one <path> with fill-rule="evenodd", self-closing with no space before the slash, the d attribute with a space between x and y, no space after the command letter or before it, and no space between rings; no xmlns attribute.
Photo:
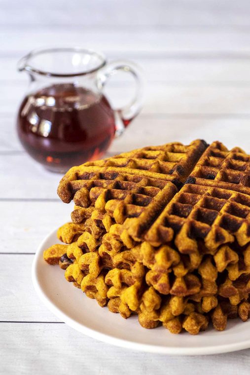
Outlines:
<svg viewBox="0 0 250 375"><path fill-rule="evenodd" d="M239 147L228 150L218 141L207 146L201 140L188 146L173 142L87 162L66 173L60 181L58 195L69 203L78 189L86 186L90 190L95 180L131 181L132 176L170 181L178 188L186 181L250 195L250 155Z"/></svg>

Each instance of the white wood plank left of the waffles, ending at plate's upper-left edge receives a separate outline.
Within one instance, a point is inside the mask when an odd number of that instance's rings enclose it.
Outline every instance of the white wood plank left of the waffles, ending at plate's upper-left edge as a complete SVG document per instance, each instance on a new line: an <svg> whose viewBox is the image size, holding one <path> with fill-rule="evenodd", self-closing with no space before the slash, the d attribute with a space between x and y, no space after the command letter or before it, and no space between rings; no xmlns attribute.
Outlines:
<svg viewBox="0 0 250 375"><path fill-rule="evenodd" d="M56 192L50 193L55 195ZM71 221L72 210L73 204L65 204L59 197L56 201L18 201L17 198L0 201L0 221L4 233L0 253L34 254L51 230Z"/></svg>

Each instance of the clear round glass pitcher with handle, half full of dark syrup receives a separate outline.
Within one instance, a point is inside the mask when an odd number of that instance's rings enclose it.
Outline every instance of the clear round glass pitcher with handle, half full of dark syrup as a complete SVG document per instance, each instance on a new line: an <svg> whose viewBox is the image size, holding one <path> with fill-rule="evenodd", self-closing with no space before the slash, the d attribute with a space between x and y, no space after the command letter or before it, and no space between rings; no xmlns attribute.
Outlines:
<svg viewBox="0 0 250 375"><path fill-rule="evenodd" d="M142 107L138 67L125 61L107 63L98 52L36 50L19 61L18 70L30 76L17 117L19 139L35 160L54 172L101 158ZM131 73L137 90L129 105L113 110L103 88L118 71Z"/></svg>

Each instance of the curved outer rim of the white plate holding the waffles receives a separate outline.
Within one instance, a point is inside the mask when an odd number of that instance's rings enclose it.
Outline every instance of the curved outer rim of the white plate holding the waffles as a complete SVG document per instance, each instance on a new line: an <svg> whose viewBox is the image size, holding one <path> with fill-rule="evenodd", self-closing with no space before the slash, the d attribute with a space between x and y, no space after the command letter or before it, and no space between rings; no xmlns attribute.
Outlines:
<svg viewBox="0 0 250 375"><path fill-rule="evenodd" d="M150 344L143 344L139 342L134 342L122 338L115 338L112 335L104 334L98 330L94 330L88 328L86 325L78 323L73 318L65 314L60 308L58 308L55 303L50 300L45 292L43 291L37 275L36 269L38 267L38 260L45 250L45 243L50 239L50 237L54 236L57 232L57 228L53 229L49 232L43 240L40 242L36 249L36 254L33 259L32 263L32 282L35 288L36 294L38 295L39 299L43 302L43 304L60 320L66 323L68 326L73 328L74 330L89 336L91 338L106 342L111 345L123 347L126 349L136 350L136 351L143 351L149 353L156 353L156 354L167 354L167 355L177 355L177 356L194 356L194 355L212 355L212 354L221 354L221 353L228 353L232 351L238 351L243 349L250 348L250 338L241 342L235 342L230 344L221 344L217 346L191 346L191 347L173 347L173 346L160 346L160 345L150 345ZM99 307L99 306L98 306Z"/></svg>

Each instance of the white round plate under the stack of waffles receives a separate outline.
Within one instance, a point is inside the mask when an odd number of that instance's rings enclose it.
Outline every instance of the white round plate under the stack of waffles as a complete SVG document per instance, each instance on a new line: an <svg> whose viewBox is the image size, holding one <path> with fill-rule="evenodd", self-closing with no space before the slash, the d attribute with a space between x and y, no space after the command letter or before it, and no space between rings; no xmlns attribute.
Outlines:
<svg viewBox="0 0 250 375"><path fill-rule="evenodd" d="M36 251L32 267L32 280L36 292L45 305L62 321L84 335L109 344L133 350L175 355L201 355L225 353L250 347L250 321L229 320L223 332L212 327L197 336L188 333L170 334L163 327L146 330L136 316L127 320L101 308L96 300L64 278L58 266L44 262L43 250L58 242L56 230L51 232Z"/></svg>

